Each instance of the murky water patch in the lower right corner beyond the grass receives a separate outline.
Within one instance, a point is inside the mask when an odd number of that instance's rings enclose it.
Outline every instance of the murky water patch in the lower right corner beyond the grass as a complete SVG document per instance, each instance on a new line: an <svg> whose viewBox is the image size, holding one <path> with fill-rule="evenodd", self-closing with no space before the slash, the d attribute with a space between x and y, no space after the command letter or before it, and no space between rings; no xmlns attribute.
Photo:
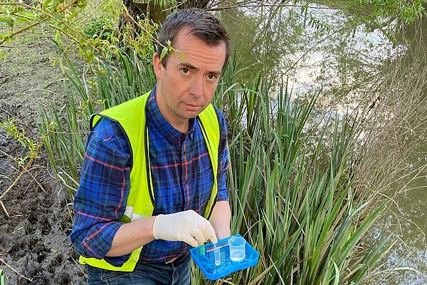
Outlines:
<svg viewBox="0 0 427 285"><path fill-rule="evenodd" d="M421 285L427 284L427 145L416 150L408 160L413 168L424 167L417 175L418 178L408 182L413 177L408 177L406 185L399 187L396 201L384 214L381 222L384 232L393 232L398 241L396 247L391 249L386 267L411 268L395 272L387 279L387 285ZM399 207L398 207L399 206Z"/></svg>

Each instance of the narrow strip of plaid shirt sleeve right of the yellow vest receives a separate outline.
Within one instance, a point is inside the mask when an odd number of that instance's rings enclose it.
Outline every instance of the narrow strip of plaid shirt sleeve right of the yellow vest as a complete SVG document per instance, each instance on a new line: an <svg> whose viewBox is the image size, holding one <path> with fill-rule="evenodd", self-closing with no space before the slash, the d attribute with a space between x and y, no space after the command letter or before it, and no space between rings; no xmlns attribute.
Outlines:
<svg viewBox="0 0 427 285"><path fill-rule="evenodd" d="M228 201L227 185L226 185L226 171L228 170L228 144L227 144L227 125L226 119L218 108L216 113L218 114L219 129L221 133L221 139L218 147L218 174L216 180L218 183L218 196L217 201Z"/></svg>

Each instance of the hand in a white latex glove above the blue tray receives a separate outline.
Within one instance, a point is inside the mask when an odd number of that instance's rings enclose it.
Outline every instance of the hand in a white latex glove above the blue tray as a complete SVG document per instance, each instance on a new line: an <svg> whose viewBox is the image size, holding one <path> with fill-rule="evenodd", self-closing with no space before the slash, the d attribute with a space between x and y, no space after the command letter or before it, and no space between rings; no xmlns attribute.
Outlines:
<svg viewBox="0 0 427 285"><path fill-rule="evenodd" d="M198 247L208 239L215 244L218 242L211 223L192 209L159 214L154 220L153 235L154 239L186 242L191 247Z"/></svg>

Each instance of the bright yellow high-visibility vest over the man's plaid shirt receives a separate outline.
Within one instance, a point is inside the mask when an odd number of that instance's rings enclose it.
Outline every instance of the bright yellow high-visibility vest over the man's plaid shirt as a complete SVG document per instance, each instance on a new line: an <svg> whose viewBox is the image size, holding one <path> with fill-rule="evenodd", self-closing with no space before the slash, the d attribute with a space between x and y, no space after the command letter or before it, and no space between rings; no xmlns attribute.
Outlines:
<svg viewBox="0 0 427 285"><path fill-rule="evenodd" d="M149 140L148 128L145 124L145 104L149 93L95 114L90 119L90 128L93 128L102 117L110 118L119 123L127 137L132 157L130 171L130 192L126 201L125 214L120 222L132 222L142 217L151 217L154 211L154 190L151 172L149 171ZM206 207L204 217L209 219L211 210L216 202L218 185L216 174L218 168L218 146L220 130L218 117L214 106L209 106L196 118L211 158L212 172L214 173L214 186L211 197ZM102 269L113 271L133 271L139 260L142 247L135 249L130 258L122 266L112 266L105 259L79 258L80 264L89 264Z"/></svg>

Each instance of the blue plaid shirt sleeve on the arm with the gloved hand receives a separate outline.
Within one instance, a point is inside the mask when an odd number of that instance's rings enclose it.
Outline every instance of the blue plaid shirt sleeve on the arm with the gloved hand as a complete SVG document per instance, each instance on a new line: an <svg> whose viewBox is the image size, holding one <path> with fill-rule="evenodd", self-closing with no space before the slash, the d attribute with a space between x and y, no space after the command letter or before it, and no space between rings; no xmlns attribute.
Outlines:
<svg viewBox="0 0 427 285"><path fill-rule="evenodd" d="M75 194L74 224L70 240L83 257L105 259L121 266L130 254L105 257L118 222L125 212L130 190L130 148L120 125L103 118L90 133Z"/></svg>

